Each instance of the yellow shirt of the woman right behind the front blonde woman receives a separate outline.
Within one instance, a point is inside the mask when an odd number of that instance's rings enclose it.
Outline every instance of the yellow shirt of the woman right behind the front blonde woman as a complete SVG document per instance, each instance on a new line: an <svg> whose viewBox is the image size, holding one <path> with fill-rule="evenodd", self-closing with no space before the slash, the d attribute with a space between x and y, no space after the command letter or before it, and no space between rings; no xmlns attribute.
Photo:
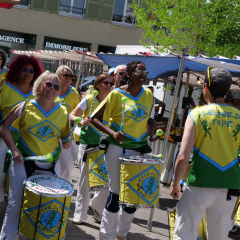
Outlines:
<svg viewBox="0 0 240 240"><path fill-rule="evenodd" d="M70 86L69 88L70 90L65 95L61 96L59 94L55 102L65 106L68 113L71 113L74 110L74 108L78 105L80 96L74 87Z"/></svg>

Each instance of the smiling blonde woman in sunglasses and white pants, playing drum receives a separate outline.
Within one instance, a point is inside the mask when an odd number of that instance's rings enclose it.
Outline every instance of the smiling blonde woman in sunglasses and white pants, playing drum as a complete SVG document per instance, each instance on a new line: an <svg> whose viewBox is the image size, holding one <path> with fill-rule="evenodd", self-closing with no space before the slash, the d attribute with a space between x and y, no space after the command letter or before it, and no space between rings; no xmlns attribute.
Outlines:
<svg viewBox="0 0 240 240"><path fill-rule="evenodd" d="M23 197L23 181L32 175L59 176L59 154L62 139L64 149L69 149L71 141L65 144L70 130L69 115L65 107L54 100L60 91L60 81L53 73L43 73L33 85L36 99L22 103L5 118L1 134L12 152L14 161L9 169L9 203L4 218L0 238L13 240L16 237ZM19 129L16 147L9 127ZM24 161L23 157L52 154L52 163Z"/></svg>

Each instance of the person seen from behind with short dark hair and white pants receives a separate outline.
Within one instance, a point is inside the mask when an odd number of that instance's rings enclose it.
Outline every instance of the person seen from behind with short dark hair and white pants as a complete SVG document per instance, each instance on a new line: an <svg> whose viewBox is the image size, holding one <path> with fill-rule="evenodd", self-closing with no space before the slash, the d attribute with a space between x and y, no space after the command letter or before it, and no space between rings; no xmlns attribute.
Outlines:
<svg viewBox="0 0 240 240"><path fill-rule="evenodd" d="M177 205L174 240L197 239L205 214L208 239L226 240L231 229L240 189L240 137L234 135L240 112L224 103L231 83L227 70L209 67L203 93L208 105L194 108L187 118L170 189L174 199L179 197L180 181L194 150L187 187Z"/></svg>

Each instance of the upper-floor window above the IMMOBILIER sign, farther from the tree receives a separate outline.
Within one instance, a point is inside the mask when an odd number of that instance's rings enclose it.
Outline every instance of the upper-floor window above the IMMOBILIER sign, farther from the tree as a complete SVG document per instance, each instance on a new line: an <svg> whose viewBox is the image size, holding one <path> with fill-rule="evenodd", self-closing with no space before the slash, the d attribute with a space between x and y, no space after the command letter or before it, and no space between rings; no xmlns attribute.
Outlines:
<svg viewBox="0 0 240 240"><path fill-rule="evenodd" d="M67 15L84 15L85 0L61 0L59 13Z"/></svg>

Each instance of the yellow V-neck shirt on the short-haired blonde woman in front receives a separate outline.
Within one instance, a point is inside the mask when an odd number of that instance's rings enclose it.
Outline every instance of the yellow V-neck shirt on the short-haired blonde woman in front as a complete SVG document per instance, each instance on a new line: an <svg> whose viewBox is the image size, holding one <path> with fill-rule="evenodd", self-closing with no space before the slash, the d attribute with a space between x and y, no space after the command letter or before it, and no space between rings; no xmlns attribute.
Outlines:
<svg viewBox="0 0 240 240"><path fill-rule="evenodd" d="M51 153L53 161L58 161L61 152L59 139L67 138L69 123L68 112L61 104L46 113L34 99L28 100L22 114L12 124L19 129L18 149L23 156Z"/></svg>

